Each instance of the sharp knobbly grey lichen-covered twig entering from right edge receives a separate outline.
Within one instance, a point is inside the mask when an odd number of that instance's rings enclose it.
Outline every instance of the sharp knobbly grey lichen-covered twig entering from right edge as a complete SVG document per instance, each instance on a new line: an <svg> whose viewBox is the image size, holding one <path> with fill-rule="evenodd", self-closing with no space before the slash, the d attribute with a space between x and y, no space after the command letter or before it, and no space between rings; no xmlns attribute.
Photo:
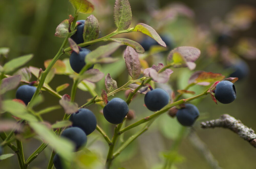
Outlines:
<svg viewBox="0 0 256 169"><path fill-rule="evenodd" d="M240 120L234 117L223 114L220 118L215 120L210 120L201 123L202 128L215 128L223 127L228 128L235 133L237 133L241 138L247 140L253 147L256 148L256 134L253 129L244 125Z"/></svg>

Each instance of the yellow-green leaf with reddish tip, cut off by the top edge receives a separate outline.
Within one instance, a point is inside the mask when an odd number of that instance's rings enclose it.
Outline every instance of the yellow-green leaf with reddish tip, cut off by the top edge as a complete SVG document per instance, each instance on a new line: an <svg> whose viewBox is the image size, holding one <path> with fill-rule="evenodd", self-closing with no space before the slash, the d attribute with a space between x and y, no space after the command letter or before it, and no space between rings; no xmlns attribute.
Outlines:
<svg viewBox="0 0 256 169"><path fill-rule="evenodd" d="M83 14L90 14L94 10L94 6L87 0L69 0L69 2L77 9L77 12Z"/></svg>

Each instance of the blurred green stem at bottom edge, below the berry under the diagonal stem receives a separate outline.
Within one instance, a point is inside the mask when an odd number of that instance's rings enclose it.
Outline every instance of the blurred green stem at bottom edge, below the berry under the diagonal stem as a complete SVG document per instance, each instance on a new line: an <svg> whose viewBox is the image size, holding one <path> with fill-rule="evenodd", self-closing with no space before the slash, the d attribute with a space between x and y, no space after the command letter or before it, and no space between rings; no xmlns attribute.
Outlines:
<svg viewBox="0 0 256 169"><path fill-rule="evenodd" d="M179 135L177 137L177 139L174 141L174 143L172 144L171 149L169 150L168 156L173 155L173 152L177 152L179 149L179 146L182 142L182 139L184 138L184 135L186 134L187 128L182 126L179 130ZM163 169L170 169L172 167L172 164L175 160L175 157L172 156L171 158L166 158L165 159L165 165L163 167Z"/></svg>

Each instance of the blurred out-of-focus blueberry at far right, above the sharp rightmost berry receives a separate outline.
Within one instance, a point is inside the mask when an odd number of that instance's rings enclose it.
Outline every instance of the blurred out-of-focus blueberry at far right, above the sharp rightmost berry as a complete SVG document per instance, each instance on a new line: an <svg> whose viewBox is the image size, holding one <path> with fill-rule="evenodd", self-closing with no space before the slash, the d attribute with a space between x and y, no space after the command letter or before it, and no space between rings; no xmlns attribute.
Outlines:
<svg viewBox="0 0 256 169"><path fill-rule="evenodd" d="M249 67L246 62L240 60L236 64L229 67L233 70L230 77L238 77L239 80L245 78L249 74Z"/></svg>

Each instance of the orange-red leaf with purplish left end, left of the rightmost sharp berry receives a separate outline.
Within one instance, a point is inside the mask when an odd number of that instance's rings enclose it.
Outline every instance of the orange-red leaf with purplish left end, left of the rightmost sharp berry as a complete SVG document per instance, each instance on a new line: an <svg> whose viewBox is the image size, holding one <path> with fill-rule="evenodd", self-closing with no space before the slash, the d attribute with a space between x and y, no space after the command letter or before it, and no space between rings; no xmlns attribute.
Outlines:
<svg viewBox="0 0 256 169"><path fill-rule="evenodd" d="M195 83L201 86L208 86L212 82L223 80L225 76L219 73L196 71L188 80L188 83Z"/></svg>

